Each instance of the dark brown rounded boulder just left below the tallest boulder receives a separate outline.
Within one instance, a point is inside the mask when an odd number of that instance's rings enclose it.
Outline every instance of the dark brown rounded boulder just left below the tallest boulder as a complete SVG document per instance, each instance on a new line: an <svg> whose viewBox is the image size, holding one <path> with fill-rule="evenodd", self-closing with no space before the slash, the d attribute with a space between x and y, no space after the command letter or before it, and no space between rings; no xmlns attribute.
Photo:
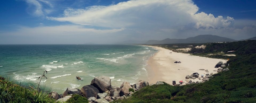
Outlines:
<svg viewBox="0 0 256 103"><path fill-rule="evenodd" d="M86 98L95 97L97 98L97 94L99 90L93 85L85 85L81 89L81 94L83 94Z"/></svg>

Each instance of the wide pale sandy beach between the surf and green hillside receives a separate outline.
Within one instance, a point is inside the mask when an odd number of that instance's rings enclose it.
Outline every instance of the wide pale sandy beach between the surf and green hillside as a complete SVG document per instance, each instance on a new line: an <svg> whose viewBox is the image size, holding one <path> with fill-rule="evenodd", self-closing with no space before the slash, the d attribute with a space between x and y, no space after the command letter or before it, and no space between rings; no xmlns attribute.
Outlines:
<svg viewBox="0 0 256 103"><path fill-rule="evenodd" d="M225 62L224 59L213 59L206 57L193 56L190 54L176 53L168 49L161 47L150 46L159 51L150 57L147 64L149 65L148 77L150 79L149 83L156 83L157 81L164 81L166 83L172 84L173 80L182 80L186 83L185 77L191 75L194 72L198 72L199 75L205 75L210 73L217 73L218 68L214 66L219 62ZM171 53L170 53L171 52ZM175 61L180 61L181 63L174 63ZM209 72L206 72L205 69ZM202 81L198 78L187 79L192 81ZM184 84L184 83L183 83Z"/></svg>

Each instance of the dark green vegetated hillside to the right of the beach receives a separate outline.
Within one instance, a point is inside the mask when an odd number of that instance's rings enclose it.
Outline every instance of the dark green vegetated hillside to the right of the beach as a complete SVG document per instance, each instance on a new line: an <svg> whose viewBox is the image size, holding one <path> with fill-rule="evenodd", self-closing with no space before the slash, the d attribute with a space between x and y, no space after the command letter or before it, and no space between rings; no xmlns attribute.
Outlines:
<svg viewBox="0 0 256 103"><path fill-rule="evenodd" d="M200 84L174 87L169 84L147 86L122 102L256 102L256 40L207 44L205 54L235 50L237 56L229 57L230 70L214 74ZM203 54L204 54L203 53ZM202 55L200 53L194 55ZM211 55L222 58L223 55Z"/></svg>

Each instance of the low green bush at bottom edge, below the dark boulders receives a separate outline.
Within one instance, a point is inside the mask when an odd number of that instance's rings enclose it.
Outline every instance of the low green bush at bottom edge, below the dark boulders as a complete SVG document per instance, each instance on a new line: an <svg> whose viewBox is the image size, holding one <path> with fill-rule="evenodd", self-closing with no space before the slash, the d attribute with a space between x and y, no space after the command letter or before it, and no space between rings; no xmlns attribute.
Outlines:
<svg viewBox="0 0 256 103"><path fill-rule="evenodd" d="M72 95L72 97L67 100L67 103L88 103L87 98L82 97L81 95Z"/></svg>

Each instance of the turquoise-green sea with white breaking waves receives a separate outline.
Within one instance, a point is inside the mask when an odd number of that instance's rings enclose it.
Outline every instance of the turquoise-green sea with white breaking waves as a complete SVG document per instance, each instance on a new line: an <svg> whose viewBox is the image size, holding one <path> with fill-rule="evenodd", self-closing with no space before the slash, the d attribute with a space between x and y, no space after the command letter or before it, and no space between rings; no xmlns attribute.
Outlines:
<svg viewBox="0 0 256 103"><path fill-rule="evenodd" d="M120 87L124 81L149 81L147 59L157 51L141 45L0 45L0 75L34 84L47 70L41 85L60 94L103 75Z"/></svg>

